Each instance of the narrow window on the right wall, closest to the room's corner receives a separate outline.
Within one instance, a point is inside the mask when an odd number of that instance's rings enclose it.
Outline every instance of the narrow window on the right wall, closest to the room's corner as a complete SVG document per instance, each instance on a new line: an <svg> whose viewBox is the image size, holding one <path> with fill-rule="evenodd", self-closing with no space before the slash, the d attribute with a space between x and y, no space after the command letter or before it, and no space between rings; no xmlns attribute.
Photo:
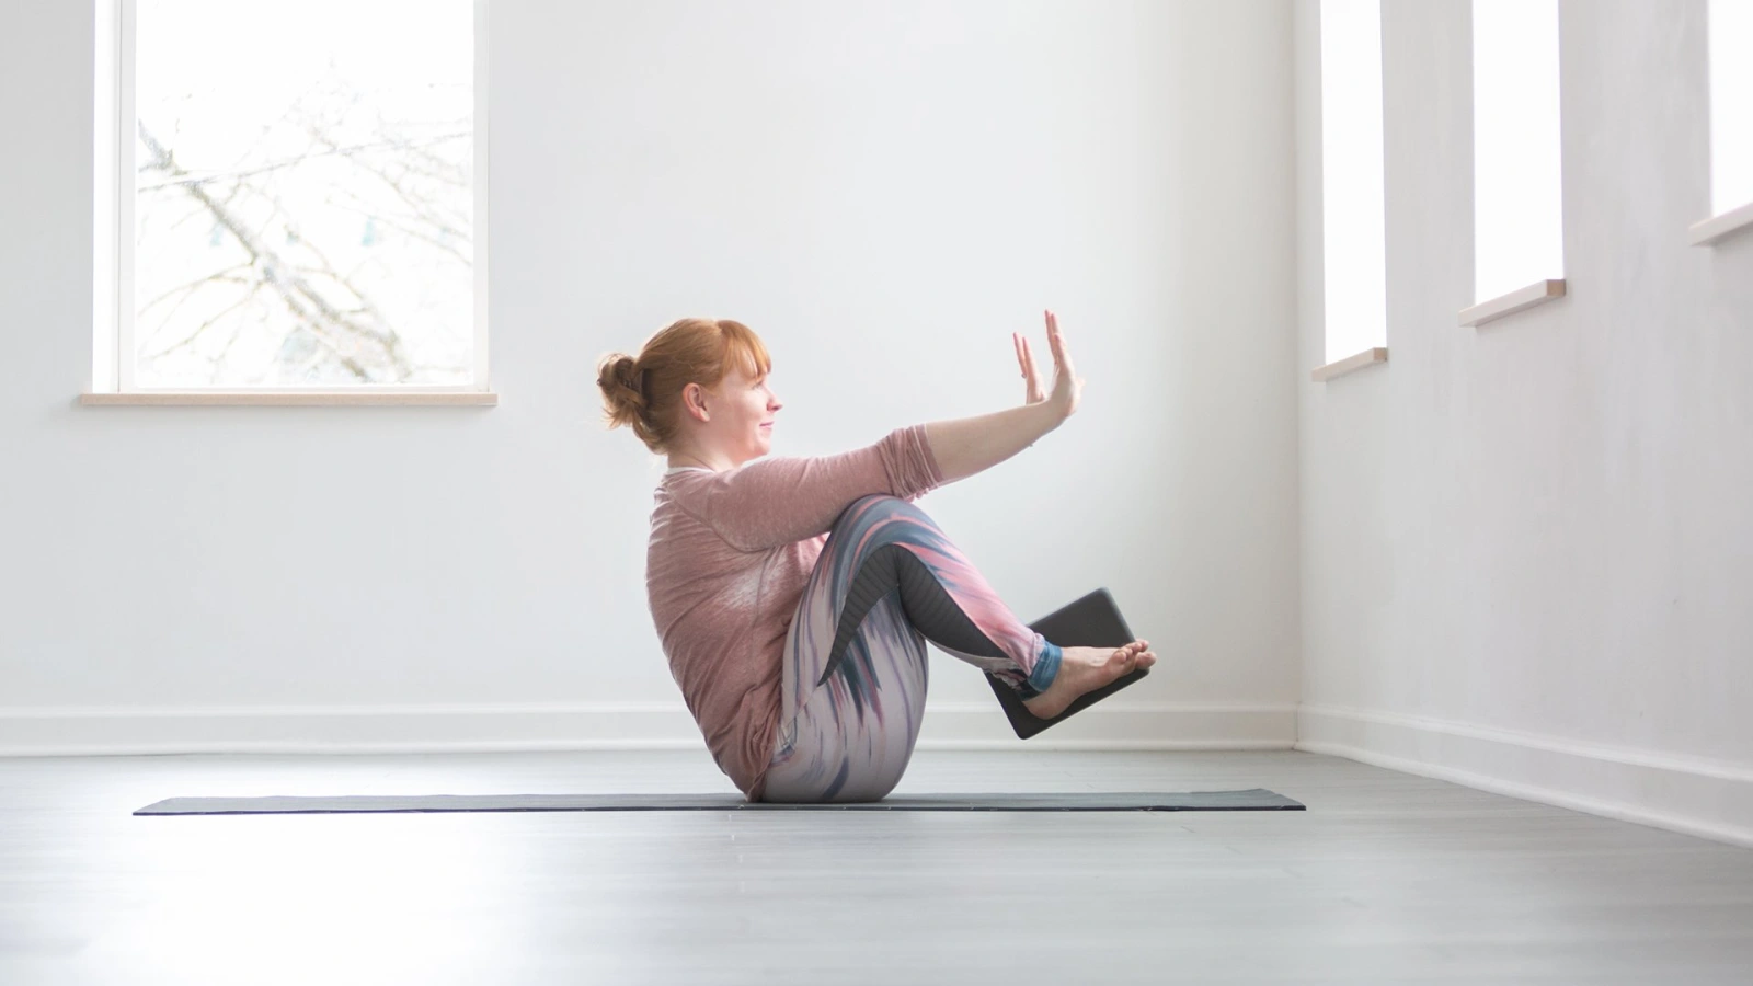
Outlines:
<svg viewBox="0 0 1753 986"><path fill-rule="evenodd" d="M1317 381L1387 354L1380 0L1322 0L1320 112L1327 367Z"/></svg>

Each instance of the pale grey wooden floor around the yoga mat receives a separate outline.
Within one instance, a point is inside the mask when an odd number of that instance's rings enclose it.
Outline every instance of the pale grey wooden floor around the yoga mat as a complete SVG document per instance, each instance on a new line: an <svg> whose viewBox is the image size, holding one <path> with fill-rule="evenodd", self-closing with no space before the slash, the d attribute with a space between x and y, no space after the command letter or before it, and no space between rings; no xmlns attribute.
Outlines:
<svg viewBox="0 0 1753 986"><path fill-rule="evenodd" d="M1753 851L1306 753L933 753L898 793L1306 812L133 818L726 791L705 753L0 760L0 982L1753 982Z"/></svg>

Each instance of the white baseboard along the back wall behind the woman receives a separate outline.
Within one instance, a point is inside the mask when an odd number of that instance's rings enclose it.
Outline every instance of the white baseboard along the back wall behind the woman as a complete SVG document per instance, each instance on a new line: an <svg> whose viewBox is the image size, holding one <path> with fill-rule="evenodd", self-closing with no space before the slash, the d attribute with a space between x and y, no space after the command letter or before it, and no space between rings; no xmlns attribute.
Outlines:
<svg viewBox="0 0 1753 986"><path fill-rule="evenodd" d="M996 702L933 702L919 749L1290 749L1292 704L1113 704L1018 740ZM680 702L12 707L0 756L705 749Z"/></svg>

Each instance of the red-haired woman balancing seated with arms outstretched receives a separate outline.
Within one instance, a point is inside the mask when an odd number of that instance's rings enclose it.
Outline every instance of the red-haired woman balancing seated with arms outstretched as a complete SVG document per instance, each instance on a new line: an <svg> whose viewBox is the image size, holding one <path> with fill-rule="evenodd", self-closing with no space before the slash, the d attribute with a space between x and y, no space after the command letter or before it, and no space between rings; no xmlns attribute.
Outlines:
<svg viewBox="0 0 1753 986"><path fill-rule="evenodd" d="M784 405L766 346L742 323L682 319L638 358L598 363L608 426L629 425L670 460L654 495L647 598L687 711L750 802L869 802L894 790L926 711L927 639L1015 688L1043 719L1155 663L1148 640L1048 642L913 505L1076 411L1083 382L1052 312L1047 340L1052 393L1013 333L1022 407L820 458L761 458Z"/></svg>

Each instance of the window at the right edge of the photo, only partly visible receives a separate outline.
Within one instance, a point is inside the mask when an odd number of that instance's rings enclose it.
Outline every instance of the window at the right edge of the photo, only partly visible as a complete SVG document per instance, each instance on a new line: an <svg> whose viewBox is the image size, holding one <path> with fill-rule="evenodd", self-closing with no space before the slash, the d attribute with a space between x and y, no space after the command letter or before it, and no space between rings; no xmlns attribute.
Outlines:
<svg viewBox="0 0 1753 986"><path fill-rule="evenodd" d="M1711 214L1693 244L1753 226L1753 0L1711 0Z"/></svg>

